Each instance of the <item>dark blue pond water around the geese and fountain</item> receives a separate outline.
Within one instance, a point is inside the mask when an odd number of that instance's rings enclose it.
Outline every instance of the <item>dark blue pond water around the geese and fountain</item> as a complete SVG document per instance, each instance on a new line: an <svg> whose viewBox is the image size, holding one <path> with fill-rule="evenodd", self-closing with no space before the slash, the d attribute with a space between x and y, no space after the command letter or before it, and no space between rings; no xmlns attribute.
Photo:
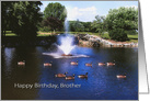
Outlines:
<svg viewBox="0 0 150 101"><path fill-rule="evenodd" d="M2 100L137 100L138 99L138 48L79 47L72 54L88 57L54 58L43 53L53 53L51 47L4 47L1 49ZM25 60L25 66L18 61ZM79 61L71 66L70 61ZM97 63L116 61L115 66L97 66ZM44 63L53 61L51 67ZM92 63L86 67L85 63ZM56 74L68 72L74 80L55 78ZM78 75L88 72L88 79ZM116 75L127 74L126 79ZM80 88L14 88L14 83L80 85Z"/></svg>

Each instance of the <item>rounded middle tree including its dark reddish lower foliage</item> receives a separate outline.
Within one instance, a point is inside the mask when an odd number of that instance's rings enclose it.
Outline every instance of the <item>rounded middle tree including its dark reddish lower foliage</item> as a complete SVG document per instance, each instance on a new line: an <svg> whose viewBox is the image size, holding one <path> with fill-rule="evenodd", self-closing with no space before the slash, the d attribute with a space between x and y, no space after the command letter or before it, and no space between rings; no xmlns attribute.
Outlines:
<svg viewBox="0 0 150 101"><path fill-rule="evenodd" d="M49 3L44 10L44 19L39 29L47 31L62 31L65 19L67 18L67 10L60 3Z"/></svg>

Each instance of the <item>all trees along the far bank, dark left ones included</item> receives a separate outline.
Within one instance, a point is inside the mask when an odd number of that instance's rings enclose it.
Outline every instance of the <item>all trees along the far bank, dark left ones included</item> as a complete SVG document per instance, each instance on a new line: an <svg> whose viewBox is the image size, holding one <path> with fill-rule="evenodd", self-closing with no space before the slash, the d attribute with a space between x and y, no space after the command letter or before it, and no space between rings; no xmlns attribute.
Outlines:
<svg viewBox="0 0 150 101"><path fill-rule="evenodd" d="M1 33L11 30L23 40L33 41L37 31L64 32L67 18L66 7L56 2L49 3L44 13L39 12L41 1L2 1ZM70 32L108 32L112 40L127 41L127 34L138 33L138 9L120 7L111 9L106 16L96 15L92 22L69 21Z"/></svg>

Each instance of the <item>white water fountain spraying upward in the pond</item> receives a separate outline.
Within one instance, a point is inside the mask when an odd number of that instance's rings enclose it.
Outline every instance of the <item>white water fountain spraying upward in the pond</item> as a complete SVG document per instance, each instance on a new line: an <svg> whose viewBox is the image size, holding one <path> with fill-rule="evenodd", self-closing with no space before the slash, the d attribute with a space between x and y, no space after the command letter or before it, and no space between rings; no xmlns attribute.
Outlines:
<svg viewBox="0 0 150 101"><path fill-rule="evenodd" d="M43 53L43 55L50 55L54 58L73 58L73 57L89 57L86 55L72 54L71 50L76 48L74 36L69 34L69 22L65 20L65 33L57 36L57 52Z"/></svg>

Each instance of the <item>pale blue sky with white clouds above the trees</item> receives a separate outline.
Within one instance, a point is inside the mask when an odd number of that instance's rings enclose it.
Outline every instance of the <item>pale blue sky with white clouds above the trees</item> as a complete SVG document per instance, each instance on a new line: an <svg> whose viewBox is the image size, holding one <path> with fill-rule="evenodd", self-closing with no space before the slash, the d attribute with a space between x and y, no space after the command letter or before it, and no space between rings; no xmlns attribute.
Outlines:
<svg viewBox="0 0 150 101"><path fill-rule="evenodd" d="M138 1L42 1L41 11L50 2L59 2L67 9L67 20L92 22L95 15L106 15L109 9L119 7L138 8Z"/></svg>

